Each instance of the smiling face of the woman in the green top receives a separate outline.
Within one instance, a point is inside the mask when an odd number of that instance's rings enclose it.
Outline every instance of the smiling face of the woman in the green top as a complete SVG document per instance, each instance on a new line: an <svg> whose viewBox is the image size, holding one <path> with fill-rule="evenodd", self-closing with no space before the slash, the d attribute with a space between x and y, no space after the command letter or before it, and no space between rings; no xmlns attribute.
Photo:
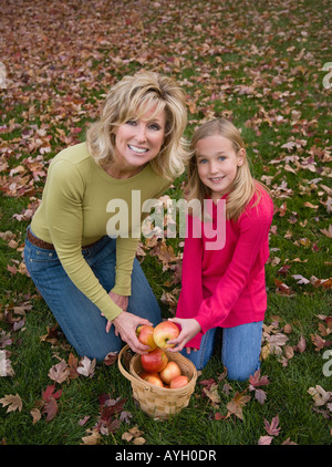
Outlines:
<svg viewBox="0 0 332 467"><path fill-rule="evenodd" d="M154 108L138 120L129 120L116 128L115 157L117 170L129 174L154 159L165 139L166 112L157 115Z"/></svg>

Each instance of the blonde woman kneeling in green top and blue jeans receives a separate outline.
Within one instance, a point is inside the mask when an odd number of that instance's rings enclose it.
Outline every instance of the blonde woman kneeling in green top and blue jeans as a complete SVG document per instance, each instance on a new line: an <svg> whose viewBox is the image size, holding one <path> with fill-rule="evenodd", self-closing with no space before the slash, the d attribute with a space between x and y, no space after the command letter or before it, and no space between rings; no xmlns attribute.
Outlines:
<svg viewBox="0 0 332 467"><path fill-rule="evenodd" d="M24 259L80 355L102 361L122 341L144 353L137 325L160 321L135 252L144 203L184 172L186 123L176 83L139 72L111 90L86 142L50 164Z"/></svg>

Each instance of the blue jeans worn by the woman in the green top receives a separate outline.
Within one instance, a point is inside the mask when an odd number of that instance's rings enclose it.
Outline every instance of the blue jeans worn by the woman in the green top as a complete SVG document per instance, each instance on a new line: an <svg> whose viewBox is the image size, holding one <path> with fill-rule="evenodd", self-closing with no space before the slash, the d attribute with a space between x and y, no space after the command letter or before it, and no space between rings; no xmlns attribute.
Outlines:
<svg viewBox="0 0 332 467"><path fill-rule="evenodd" d="M116 240L105 236L92 247L82 248L85 261L107 292L115 283L115 247ZM123 342L115 335L114 326L106 333L106 318L74 286L55 250L35 247L25 239L24 261L37 289L79 355L103 361L108 352L121 350ZM162 321L158 302L136 258L127 311L149 320L154 325Z"/></svg>

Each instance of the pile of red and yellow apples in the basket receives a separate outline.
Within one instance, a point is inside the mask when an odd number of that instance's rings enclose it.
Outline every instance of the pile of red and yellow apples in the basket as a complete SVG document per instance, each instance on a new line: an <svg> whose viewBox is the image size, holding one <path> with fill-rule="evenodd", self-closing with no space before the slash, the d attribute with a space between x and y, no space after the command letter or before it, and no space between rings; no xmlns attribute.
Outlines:
<svg viewBox="0 0 332 467"><path fill-rule="evenodd" d="M173 345L168 341L179 334L178 326L172 321L163 321L156 328L141 325L136 330L138 341L148 345L148 353L141 355L143 372L139 374L144 381L159 387L177 388L189 383L188 376L181 374L179 365L168 361L165 350Z"/></svg>

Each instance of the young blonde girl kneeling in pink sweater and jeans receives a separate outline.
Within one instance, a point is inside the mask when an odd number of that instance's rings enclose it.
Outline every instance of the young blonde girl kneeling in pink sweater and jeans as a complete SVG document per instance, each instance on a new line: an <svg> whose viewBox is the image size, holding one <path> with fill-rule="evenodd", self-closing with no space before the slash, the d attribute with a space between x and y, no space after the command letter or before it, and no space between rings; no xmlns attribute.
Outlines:
<svg viewBox="0 0 332 467"><path fill-rule="evenodd" d="M225 243L220 249L207 248L211 238L205 229L200 238L195 235L201 220L188 216L181 292L176 318L170 319L181 332L169 343L175 344L173 352L181 351L201 370L211 356L216 331L222 328L222 364L230 380L245 381L260 366L273 204L252 178L243 141L230 122L220 118L201 125L191 148L188 199L199 199L201 206L204 199L212 200L214 229L224 228ZM221 199L226 212L218 219Z"/></svg>

